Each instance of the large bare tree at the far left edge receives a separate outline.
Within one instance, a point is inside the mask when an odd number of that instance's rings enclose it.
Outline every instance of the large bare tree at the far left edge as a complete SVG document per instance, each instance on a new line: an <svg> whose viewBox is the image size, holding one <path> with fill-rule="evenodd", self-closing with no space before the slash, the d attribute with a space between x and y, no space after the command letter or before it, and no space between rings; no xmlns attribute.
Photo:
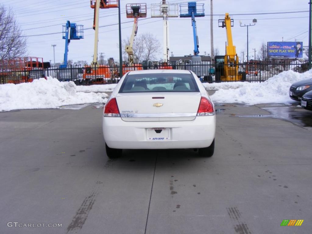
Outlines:
<svg viewBox="0 0 312 234"><path fill-rule="evenodd" d="M26 37L12 10L0 5L0 60L25 56Z"/></svg>

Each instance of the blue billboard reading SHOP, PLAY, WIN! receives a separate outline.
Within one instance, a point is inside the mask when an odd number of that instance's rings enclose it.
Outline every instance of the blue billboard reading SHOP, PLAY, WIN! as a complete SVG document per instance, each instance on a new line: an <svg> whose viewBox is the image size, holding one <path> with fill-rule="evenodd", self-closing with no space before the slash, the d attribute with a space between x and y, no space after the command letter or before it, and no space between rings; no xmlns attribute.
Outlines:
<svg viewBox="0 0 312 234"><path fill-rule="evenodd" d="M269 41L269 58L302 58L302 41Z"/></svg>

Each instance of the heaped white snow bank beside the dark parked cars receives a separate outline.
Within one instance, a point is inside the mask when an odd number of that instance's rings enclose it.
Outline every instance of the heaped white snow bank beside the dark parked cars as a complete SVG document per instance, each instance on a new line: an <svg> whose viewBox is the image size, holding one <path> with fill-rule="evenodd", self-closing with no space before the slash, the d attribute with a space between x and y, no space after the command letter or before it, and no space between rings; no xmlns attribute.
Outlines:
<svg viewBox="0 0 312 234"><path fill-rule="evenodd" d="M283 71L261 83L237 82L233 88L232 83L219 83L217 90L211 98L215 102L222 103L245 103L255 105L260 103L293 103L289 97L289 88L293 83L312 78L312 70L305 73ZM215 84L207 84L207 89L215 87ZM229 86L230 85L230 86ZM224 87L224 88L223 88Z"/></svg>

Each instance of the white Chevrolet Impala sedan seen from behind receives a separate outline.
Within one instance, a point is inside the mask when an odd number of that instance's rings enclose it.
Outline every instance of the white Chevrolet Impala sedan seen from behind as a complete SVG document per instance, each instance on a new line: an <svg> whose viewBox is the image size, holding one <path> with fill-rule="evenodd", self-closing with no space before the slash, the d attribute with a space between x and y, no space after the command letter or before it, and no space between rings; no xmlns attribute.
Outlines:
<svg viewBox="0 0 312 234"><path fill-rule="evenodd" d="M122 149L198 149L214 152L216 115L192 71L129 71L104 107L103 134L109 158Z"/></svg>

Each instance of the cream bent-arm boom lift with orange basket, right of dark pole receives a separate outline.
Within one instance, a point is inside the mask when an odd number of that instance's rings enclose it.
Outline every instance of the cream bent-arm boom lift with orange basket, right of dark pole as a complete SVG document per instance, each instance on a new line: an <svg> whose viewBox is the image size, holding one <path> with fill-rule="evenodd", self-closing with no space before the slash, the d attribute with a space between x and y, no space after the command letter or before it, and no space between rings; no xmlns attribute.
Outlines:
<svg viewBox="0 0 312 234"><path fill-rule="evenodd" d="M126 15L127 18L134 18L134 23L132 27L132 33L130 37L129 44L126 45L125 51L128 54L129 57L129 67L126 64L123 64L123 74L127 71L133 71L133 70L143 70L143 67L141 64L139 64L139 61L137 59L137 56L133 53L133 42L134 37L136 36L138 32L138 20L139 18L145 18L146 17L146 3L129 3L126 4Z"/></svg>

